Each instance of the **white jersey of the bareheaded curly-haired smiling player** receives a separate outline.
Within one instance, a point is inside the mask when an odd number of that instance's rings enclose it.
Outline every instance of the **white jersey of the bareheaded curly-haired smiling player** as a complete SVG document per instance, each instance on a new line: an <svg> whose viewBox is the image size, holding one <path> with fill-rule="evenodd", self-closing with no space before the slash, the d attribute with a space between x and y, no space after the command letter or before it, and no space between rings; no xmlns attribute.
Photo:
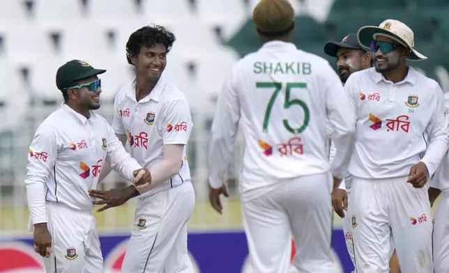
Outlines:
<svg viewBox="0 0 449 273"><path fill-rule="evenodd" d="M133 79L116 95L112 127L116 134L128 137L132 157L151 171L164 159L164 145L186 146L192 132L192 117L184 94L163 77L151 93L139 102L135 97L135 87ZM179 173L139 198L190 181L185 146Z"/></svg>

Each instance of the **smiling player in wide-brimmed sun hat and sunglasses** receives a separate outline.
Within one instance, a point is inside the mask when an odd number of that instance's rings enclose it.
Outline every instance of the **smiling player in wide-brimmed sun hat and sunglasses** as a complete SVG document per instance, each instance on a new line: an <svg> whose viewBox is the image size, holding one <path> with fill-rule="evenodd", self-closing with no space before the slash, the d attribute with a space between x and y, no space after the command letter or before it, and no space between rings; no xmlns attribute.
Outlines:
<svg viewBox="0 0 449 273"><path fill-rule="evenodd" d="M389 272L391 235L402 272L432 272L424 186L448 150L443 92L406 64L427 58L414 49L413 31L402 22L364 26L357 38L371 47L375 68L354 72L344 85L356 114L356 148L349 164L356 272Z"/></svg>

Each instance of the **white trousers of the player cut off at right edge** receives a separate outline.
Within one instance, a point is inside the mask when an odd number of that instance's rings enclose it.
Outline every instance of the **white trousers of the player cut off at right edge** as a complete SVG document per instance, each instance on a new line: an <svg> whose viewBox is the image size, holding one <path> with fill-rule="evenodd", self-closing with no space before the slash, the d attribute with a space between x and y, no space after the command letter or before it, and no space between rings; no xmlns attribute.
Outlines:
<svg viewBox="0 0 449 273"><path fill-rule="evenodd" d="M434 273L449 272L449 192L442 192L435 212Z"/></svg>

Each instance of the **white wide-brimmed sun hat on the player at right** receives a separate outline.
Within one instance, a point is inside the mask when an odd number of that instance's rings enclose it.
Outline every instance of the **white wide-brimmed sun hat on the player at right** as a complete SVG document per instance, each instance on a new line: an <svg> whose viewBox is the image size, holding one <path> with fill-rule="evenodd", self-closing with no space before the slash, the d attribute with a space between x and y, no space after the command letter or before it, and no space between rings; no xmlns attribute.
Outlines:
<svg viewBox="0 0 449 273"><path fill-rule="evenodd" d="M379 26L363 26L358 30L357 40L363 47L370 48L371 42L377 36L391 38L404 45L404 47L408 47L410 49L410 55L407 60L409 61L422 61L427 59L426 56L414 49L415 39L413 31L403 22L388 19L383 21Z"/></svg>

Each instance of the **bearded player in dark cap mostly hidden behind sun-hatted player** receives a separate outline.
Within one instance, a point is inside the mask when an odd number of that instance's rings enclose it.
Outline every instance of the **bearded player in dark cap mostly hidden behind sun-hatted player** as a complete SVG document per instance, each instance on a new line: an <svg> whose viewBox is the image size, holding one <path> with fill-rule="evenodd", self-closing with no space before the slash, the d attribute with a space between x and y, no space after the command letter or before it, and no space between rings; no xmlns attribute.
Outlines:
<svg viewBox="0 0 449 273"><path fill-rule="evenodd" d="M340 72L340 79L342 80L342 83L345 83L349 75L353 72L371 68L373 63L372 53L367 52L358 44L357 33L349 33L341 42L328 42L324 45L324 53L337 59L337 70ZM335 152L335 145L331 143L329 157L331 162L335 156ZM346 184L346 189L342 187L334 189L332 198L335 212L343 218L344 239L346 241L349 256L351 257L352 263L355 267L356 263L354 260L354 249L351 235L351 217L344 217L344 210L347 210L347 199L351 193L351 181L352 177L349 173L347 173L344 177L345 183L340 184L341 186ZM390 273L398 273L399 263L397 262L396 253L393 251L394 247L392 242L391 252L393 253L393 256L390 260ZM353 273L354 272L355 271L353 271Z"/></svg>

